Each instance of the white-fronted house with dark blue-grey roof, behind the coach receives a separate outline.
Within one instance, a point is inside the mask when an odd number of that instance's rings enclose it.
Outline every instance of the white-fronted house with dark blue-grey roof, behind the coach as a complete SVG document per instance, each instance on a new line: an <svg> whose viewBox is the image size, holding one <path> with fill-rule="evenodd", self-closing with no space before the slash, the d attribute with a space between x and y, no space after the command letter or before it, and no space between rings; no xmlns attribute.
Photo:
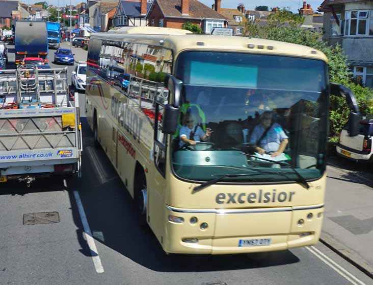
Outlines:
<svg viewBox="0 0 373 285"><path fill-rule="evenodd" d="M151 3L141 1L119 1L115 13L114 27L147 26L146 13Z"/></svg>

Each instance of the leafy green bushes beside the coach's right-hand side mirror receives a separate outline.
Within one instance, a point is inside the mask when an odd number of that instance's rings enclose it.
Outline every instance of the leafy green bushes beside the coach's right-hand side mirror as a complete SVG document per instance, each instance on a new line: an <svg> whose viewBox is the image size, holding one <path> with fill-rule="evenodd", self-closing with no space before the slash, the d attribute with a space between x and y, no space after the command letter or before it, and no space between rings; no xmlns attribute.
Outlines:
<svg viewBox="0 0 373 285"><path fill-rule="evenodd" d="M330 46L322 41L322 33L301 28L303 22L303 17L280 9L268 17L267 26L258 25L257 21L246 22L245 33L250 37L302 44L322 51L328 58L330 81L343 84L354 92L361 113L373 113L373 90L354 82L341 46ZM349 112L343 98L331 96L330 141L338 140L339 132L348 121Z"/></svg>

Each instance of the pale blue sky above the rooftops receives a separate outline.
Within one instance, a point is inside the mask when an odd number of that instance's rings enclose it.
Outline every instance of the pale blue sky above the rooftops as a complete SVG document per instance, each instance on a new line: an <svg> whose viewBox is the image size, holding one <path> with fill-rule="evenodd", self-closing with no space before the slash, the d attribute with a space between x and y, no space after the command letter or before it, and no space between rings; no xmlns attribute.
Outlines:
<svg viewBox="0 0 373 285"><path fill-rule="evenodd" d="M34 4L36 2L43 1L43 0L23 0L22 2L26 4ZM70 5L70 0L44 0L47 1L49 4L64 6ZM214 0L199 0L203 4L211 7L214 3ZM71 0L72 5L76 5L78 3L85 2L85 0ZM323 0L307 0L307 4L311 4L312 9L316 12L317 7L321 5ZM237 8L238 4L243 3L245 5L245 9L247 10L254 10L256 6L264 5L268 6L270 9L272 7L289 7L292 12L297 12L299 5L303 5L303 0L222 0L222 8Z"/></svg>

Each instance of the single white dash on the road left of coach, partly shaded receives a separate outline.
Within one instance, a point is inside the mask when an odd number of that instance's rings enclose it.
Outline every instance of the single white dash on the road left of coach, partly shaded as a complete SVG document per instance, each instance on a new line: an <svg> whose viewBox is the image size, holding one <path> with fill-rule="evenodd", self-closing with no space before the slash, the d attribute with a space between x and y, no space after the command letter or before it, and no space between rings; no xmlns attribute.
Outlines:
<svg viewBox="0 0 373 285"><path fill-rule="evenodd" d="M101 259L100 259L100 256L98 255L97 247L92 237L91 229L89 228L89 224L87 221L86 213L83 208L81 197L79 196L79 193L75 190L74 190L74 197L75 197L76 205L79 210L79 215L81 216L81 220L82 220L82 224L84 228L84 234L85 234L89 249L91 250L93 264L95 266L96 272L103 273L104 271L103 271L103 267L101 264Z"/></svg>

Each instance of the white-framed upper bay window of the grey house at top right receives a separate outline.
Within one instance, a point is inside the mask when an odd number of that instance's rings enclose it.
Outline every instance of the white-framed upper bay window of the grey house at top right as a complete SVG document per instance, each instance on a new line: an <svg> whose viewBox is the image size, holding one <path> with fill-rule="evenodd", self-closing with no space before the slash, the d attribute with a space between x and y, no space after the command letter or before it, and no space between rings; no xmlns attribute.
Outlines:
<svg viewBox="0 0 373 285"><path fill-rule="evenodd" d="M344 20L345 36L373 36L373 11L346 11Z"/></svg>

